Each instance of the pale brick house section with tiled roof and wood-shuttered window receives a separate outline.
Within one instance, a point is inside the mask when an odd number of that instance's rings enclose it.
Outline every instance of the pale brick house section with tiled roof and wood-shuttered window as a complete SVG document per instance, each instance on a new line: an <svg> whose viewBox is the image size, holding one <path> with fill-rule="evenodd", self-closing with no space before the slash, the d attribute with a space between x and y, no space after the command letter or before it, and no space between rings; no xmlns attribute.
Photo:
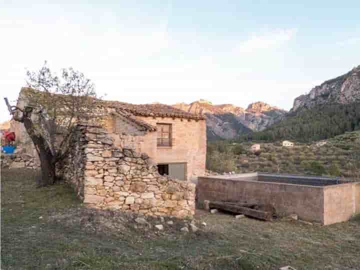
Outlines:
<svg viewBox="0 0 360 270"><path fill-rule="evenodd" d="M180 180L204 174L206 124L203 115L165 104L101 102L110 110L104 126L115 146L148 154L158 164L160 174Z"/></svg>

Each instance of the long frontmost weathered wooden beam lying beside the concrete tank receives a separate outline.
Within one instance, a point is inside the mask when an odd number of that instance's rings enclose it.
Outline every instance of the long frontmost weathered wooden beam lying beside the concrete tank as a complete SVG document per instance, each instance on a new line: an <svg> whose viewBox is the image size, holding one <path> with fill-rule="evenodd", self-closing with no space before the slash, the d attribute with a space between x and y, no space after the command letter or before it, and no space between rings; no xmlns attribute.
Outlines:
<svg viewBox="0 0 360 270"><path fill-rule="evenodd" d="M260 210L251 209L248 207L228 204L221 201L210 201L209 208L225 210L233 213L244 214L262 220L272 220L272 212L265 212Z"/></svg>

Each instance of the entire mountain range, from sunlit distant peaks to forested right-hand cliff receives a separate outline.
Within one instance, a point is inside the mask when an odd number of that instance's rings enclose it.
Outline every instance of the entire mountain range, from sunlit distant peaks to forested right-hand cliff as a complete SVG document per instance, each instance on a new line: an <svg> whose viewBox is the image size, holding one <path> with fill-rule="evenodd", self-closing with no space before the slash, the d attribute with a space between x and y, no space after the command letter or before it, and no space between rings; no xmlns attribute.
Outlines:
<svg viewBox="0 0 360 270"><path fill-rule="evenodd" d="M205 99L172 106L204 113L208 140L243 135L258 139L299 138L304 134L309 139L320 139L357 129L358 102L360 65L296 97L290 111L262 101L251 103L246 109L233 104L214 105Z"/></svg>

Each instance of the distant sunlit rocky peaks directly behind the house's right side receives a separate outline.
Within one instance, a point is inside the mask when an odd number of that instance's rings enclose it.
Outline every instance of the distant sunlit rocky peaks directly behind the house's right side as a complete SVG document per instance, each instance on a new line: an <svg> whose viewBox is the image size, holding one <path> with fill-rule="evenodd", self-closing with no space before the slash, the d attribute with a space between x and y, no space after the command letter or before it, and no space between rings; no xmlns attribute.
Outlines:
<svg viewBox="0 0 360 270"><path fill-rule="evenodd" d="M246 109L233 104L213 105L210 101L200 99L190 104L176 103L176 108L206 115L207 138L232 139L252 130L263 130L280 120L286 111L258 101Z"/></svg>

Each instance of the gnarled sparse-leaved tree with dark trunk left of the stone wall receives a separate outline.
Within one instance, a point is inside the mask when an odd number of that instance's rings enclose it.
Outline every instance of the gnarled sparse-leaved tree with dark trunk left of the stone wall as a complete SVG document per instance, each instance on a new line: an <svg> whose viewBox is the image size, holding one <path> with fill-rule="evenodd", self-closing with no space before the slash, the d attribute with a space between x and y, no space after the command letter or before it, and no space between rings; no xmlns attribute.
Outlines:
<svg viewBox="0 0 360 270"><path fill-rule="evenodd" d="M16 106L6 105L13 119L23 123L40 158L40 186L56 181L56 163L69 151L78 122L90 120L96 102L94 84L83 73L63 68L56 76L44 65L27 71ZM22 105L19 105L22 104Z"/></svg>

